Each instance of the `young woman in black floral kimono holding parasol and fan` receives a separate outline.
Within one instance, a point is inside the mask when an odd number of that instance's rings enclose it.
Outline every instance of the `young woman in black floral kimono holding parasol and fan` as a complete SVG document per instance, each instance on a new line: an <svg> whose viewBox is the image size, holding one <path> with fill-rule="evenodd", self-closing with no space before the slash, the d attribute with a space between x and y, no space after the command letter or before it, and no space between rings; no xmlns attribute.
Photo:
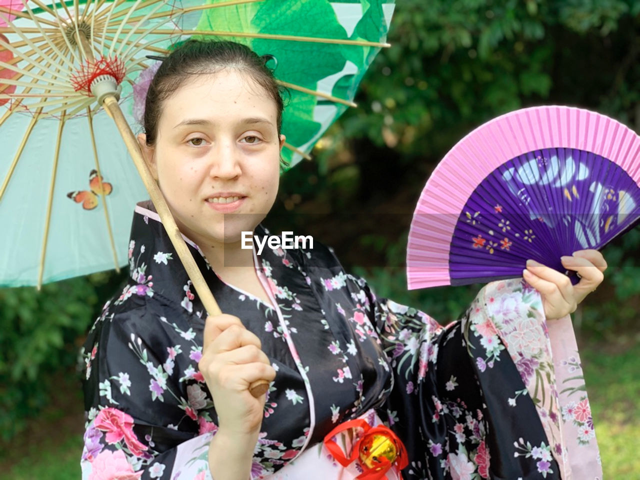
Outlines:
<svg viewBox="0 0 640 480"><path fill-rule="evenodd" d="M351 419L390 427L404 479L563 476L560 420L527 382L544 372L556 392L546 321L602 282L602 255L563 259L575 286L531 264L446 328L376 298L317 242L257 255L242 232L268 234L282 109L264 61L241 45L187 42L154 77L140 145L227 313L207 317L152 205L138 205L131 281L84 347L83 478L355 478L364 462L344 467L323 442ZM259 379L271 385L255 398ZM349 431L337 435L347 450Z"/></svg>

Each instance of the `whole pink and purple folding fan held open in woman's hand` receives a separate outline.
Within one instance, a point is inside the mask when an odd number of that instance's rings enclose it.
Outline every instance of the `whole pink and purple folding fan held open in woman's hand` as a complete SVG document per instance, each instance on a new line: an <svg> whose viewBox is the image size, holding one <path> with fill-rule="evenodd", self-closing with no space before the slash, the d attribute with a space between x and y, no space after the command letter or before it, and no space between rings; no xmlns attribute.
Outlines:
<svg viewBox="0 0 640 480"><path fill-rule="evenodd" d="M527 259L599 250L640 219L640 137L578 108L517 110L438 164L407 246L409 289L522 276Z"/></svg>

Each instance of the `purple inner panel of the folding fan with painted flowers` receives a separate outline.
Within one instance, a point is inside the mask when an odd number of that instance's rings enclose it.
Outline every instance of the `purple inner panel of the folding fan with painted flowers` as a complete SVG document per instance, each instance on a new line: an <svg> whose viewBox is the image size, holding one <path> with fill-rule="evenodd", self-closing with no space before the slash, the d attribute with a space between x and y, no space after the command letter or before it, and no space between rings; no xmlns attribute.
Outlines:
<svg viewBox="0 0 640 480"><path fill-rule="evenodd" d="M600 249L640 218L640 189L617 164L572 148L515 157L470 195L456 223L452 285L522 276L527 259Z"/></svg>

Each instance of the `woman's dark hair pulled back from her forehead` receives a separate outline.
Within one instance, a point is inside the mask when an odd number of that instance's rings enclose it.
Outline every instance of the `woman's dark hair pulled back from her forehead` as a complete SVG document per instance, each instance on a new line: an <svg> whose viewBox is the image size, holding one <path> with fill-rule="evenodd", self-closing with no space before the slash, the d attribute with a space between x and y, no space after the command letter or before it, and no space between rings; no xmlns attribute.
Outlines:
<svg viewBox="0 0 640 480"><path fill-rule="evenodd" d="M235 42L184 42L163 59L149 86L143 117L147 145L152 147L156 143L157 124L162 113L163 100L168 99L190 76L214 74L225 68L248 74L255 83L264 88L276 103L276 126L280 135L284 102L273 72L266 67L266 60L268 59L260 57L249 47Z"/></svg>

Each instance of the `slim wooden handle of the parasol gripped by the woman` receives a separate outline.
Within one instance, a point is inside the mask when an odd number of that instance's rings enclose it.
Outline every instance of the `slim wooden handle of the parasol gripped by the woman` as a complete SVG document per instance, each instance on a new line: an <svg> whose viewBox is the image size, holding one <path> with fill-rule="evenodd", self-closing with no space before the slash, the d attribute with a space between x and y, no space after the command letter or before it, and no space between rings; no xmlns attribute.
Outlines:
<svg viewBox="0 0 640 480"><path fill-rule="evenodd" d="M195 287L196 292L198 292L198 296L200 296L200 300L202 300L205 310L207 310L209 315L220 315L222 312L220 311L220 307L218 307L218 302L213 298L213 294L211 293L211 290L209 290L209 285L205 282L202 272L200 272L200 269L196 265L193 255L191 255L187 244L182 238L182 234L180 234L180 230L175 224L175 220L173 220L171 211L164 200L162 192L157 186L156 180L152 177L151 172L149 172L147 163L142 157L138 140L136 140L136 137L131 131L131 127L129 127L129 124L120 109L118 100L116 100L113 95L110 95L104 98L102 106L109 116L113 118L116 127L118 127L118 131L120 131L120 135L122 135L122 139L124 140L125 145L127 145L127 150L129 150L129 154L131 154L133 163L136 164L138 173L140 173L140 177L151 196L151 201L156 207L160 220L166 229L166 233L171 239L173 248L175 248L175 251L178 253L178 257L180 257L180 261L182 262L184 269L187 271L187 275L189 275L191 283ZM264 395L268 389L269 382L266 380L254 381L249 386L251 394L256 398Z"/></svg>

